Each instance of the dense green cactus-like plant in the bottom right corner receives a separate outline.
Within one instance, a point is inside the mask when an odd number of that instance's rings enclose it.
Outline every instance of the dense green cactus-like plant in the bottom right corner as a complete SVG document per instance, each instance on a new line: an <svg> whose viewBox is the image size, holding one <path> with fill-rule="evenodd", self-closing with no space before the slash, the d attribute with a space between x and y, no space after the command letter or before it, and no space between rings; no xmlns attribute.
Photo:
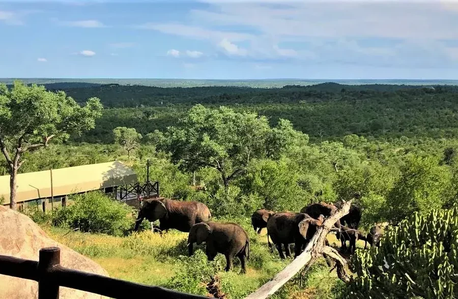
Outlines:
<svg viewBox="0 0 458 299"><path fill-rule="evenodd" d="M388 227L380 247L351 259L347 298L458 298L458 206Z"/></svg>

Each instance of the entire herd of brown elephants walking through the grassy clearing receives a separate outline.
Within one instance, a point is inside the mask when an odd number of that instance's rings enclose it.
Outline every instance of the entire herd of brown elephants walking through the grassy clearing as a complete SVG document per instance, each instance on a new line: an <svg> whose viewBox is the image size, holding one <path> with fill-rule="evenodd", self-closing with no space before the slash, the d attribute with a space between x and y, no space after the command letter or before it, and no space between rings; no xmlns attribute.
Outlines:
<svg viewBox="0 0 458 299"><path fill-rule="evenodd" d="M286 256L291 256L289 245L292 243L295 244L295 257L297 257L317 228L322 225L325 217L334 213L340 204L312 203L303 207L300 213L256 210L251 216L251 224L258 234L261 233L262 228L267 227L268 245L272 247L269 241L270 236L281 258L285 258L281 245L284 246ZM226 258L224 270L229 271L233 258L238 257L242 273L246 273L245 259L249 259L250 254L247 232L237 223L217 223L211 221L211 217L209 208L202 202L150 198L142 201L134 230L138 230L145 218L150 222L159 220L161 233L168 229L189 232L187 244L189 256L193 254L194 243L199 245L205 242L209 260L213 260L218 253L223 254ZM361 209L352 204L350 213L335 223L336 236L344 250L346 250L346 241L349 241L349 250L354 252L358 239L364 240L366 245L367 243L371 246L379 245L382 235L381 227L376 225L370 229L369 233L364 234L358 230L360 220Z"/></svg>

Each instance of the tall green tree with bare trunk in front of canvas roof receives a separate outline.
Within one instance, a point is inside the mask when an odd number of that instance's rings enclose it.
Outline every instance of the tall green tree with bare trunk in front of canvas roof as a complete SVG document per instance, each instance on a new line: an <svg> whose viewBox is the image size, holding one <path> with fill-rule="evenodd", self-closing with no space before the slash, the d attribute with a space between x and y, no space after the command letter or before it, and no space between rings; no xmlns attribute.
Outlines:
<svg viewBox="0 0 458 299"><path fill-rule="evenodd" d="M47 146L62 142L71 134L81 134L95 127L102 115L98 98L78 105L64 92L49 92L44 86L14 82L11 89L0 84L0 149L10 173L10 207L16 210L16 177L25 162L21 157Z"/></svg>

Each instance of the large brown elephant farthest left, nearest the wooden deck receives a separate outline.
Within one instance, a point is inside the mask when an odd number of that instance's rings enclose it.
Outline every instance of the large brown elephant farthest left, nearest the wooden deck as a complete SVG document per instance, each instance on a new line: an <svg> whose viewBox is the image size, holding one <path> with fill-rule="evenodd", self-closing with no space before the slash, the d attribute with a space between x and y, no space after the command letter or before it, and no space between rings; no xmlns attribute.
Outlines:
<svg viewBox="0 0 458 299"><path fill-rule="evenodd" d="M202 202L150 198L143 201L138 211L135 231L138 230L141 221L145 218L150 222L159 219L161 231L175 228L179 231L189 232L194 224L210 220L211 213Z"/></svg>

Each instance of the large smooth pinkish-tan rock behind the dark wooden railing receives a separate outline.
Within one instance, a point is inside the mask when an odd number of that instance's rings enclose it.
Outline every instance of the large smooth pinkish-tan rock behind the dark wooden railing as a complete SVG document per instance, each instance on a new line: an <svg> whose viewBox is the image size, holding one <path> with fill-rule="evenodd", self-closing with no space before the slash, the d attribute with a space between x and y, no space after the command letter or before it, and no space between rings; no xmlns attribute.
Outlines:
<svg viewBox="0 0 458 299"><path fill-rule="evenodd" d="M51 238L30 218L0 205L0 254L23 259L38 260L44 247L61 249L61 264L64 267L103 276L108 273L91 259L71 250ZM38 298L36 281L0 275L0 298ZM60 298L101 299L101 295L60 287Z"/></svg>

